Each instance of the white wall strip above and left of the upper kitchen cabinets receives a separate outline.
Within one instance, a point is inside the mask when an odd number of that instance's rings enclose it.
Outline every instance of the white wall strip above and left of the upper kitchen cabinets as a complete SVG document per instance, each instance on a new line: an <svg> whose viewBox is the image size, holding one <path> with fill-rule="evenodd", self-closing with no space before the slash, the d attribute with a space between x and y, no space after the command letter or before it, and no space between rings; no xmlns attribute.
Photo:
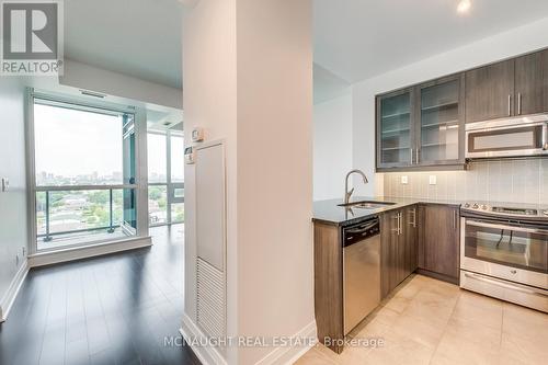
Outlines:
<svg viewBox="0 0 548 365"><path fill-rule="evenodd" d="M367 175L375 171L375 95L453 72L511 58L548 46L548 18L467 46L424 59L353 85L353 162ZM383 174L363 186L359 195L383 194Z"/></svg>

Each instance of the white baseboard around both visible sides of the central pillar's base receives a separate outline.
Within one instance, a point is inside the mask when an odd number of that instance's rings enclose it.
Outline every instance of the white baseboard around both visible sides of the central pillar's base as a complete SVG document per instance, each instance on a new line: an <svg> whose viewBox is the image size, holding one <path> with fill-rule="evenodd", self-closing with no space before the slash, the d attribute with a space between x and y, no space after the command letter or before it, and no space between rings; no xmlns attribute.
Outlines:
<svg viewBox="0 0 548 365"><path fill-rule="evenodd" d="M226 365L227 361L215 347L207 346L193 346L193 339L207 339L207 337L199 330L199 328L194 323L193 320L186 313L183 315L183 324L180 329L181 334L184 340L189 343L193 352L198 357L199 362L204 365L208 364L222 364ZM294 342L298 342L299 339L315 339L311 343L305 346L287 346L287 347L276 347L266 356L261 358L255 365L277 365L277 364L293 364L300 356L302 356L308 350L310 350L317 343L317 328L316 320L311 321L300 331L295 333L292 339Z"/></svg>

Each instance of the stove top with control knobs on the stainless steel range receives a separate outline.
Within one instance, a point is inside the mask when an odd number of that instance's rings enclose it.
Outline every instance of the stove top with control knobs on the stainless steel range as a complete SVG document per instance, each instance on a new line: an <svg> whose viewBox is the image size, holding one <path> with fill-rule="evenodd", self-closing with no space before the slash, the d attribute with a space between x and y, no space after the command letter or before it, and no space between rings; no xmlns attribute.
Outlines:
<svg viewBox="0 0 548 365"><path fill-rule="evenodd" d="M548 208L526 204L468 202L461 206L461 209L501 217L548 219Z"/></svg>

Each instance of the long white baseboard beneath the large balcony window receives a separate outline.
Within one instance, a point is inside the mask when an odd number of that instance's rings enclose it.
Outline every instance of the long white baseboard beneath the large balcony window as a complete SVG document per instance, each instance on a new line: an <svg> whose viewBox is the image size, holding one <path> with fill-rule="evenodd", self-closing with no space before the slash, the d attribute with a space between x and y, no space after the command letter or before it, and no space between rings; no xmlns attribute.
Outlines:
<svg viewBox="0 0 548 365"><path fill-rule="evenodd" d="M152 246L150 237L132 238L123 241L91 244L87 247L41 252L28 255L28 266L37 267L61 262L101 256L110 253L141 249Z"/></svg>

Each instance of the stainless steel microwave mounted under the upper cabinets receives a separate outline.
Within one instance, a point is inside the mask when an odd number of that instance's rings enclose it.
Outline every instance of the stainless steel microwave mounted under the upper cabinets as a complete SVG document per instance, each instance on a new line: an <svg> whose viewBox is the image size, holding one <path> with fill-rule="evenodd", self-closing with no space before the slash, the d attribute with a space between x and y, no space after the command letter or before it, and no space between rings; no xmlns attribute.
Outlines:
<svg viewBox="0 0 548 365"><path fill-rule="evenodd" d="M548 156L548 114L468 123L467 159Z"/></svg>

